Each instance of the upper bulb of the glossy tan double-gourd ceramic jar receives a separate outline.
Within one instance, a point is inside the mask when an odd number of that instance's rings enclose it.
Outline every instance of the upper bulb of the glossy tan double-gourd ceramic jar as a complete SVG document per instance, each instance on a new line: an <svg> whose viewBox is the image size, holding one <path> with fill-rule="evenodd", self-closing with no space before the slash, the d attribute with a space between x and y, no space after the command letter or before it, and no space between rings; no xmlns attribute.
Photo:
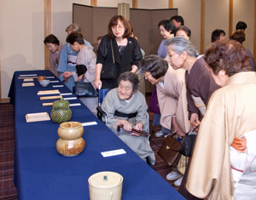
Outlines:
<svg viewBox="0 0 256 200"><path fill-rule="evenodd" d="M57 132L62 140L76 140L84 134L84 127L79 122L61 123Z"/></svg>

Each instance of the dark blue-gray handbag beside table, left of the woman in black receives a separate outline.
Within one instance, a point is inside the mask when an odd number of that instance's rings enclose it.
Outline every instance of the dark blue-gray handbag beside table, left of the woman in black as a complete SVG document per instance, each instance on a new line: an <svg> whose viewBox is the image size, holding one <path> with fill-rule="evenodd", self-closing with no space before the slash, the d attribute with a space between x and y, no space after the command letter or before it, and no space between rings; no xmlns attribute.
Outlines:
<svg viewBox="0 0 256 200"><path fill-rule="evenodd" d="M84 76L73 86L73 94L78 97L97 97L98 94L90 82L84 83Z"/></svg>

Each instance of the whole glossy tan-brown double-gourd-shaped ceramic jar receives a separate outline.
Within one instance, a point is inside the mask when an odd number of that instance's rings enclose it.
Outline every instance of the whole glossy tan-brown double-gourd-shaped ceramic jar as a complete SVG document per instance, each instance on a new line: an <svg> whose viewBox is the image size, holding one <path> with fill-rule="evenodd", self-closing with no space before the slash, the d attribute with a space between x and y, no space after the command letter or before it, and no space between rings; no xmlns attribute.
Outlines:
<svg viewBox="0 0 256 200"><path fill-rule="evenodd" d="M58 129L60 139L57 140L57 151L66 157L73 157L84 151L85 142L82 138L84 127L79 122L61 123Z"/></svg>

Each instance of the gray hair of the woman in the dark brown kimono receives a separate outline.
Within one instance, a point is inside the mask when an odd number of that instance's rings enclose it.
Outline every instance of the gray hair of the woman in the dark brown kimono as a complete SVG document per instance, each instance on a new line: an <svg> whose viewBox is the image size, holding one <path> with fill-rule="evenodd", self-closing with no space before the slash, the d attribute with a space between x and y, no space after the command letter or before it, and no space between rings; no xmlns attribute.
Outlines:
<svg viewBox="0 0 256 200"><path fill-rule="evenodd" d="M172 37L170 40L166 40L165 45L167 49L172 49L177 54L182 54L185 51L192 57L197 57L198 55L195 46L184 37Z"/></svg>

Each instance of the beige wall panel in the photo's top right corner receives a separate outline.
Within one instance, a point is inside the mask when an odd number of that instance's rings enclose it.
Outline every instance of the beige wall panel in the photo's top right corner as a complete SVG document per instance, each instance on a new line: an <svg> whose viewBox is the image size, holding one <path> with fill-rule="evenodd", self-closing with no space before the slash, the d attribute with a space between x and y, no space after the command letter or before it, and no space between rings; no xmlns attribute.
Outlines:
<svg viewBox="0 0 256 200"><path fill-rule="evenodd" d="M233 0L233 7L233 31L238 21L247 23L246 41L242 44L253 54L254 0Z"/></svg>

